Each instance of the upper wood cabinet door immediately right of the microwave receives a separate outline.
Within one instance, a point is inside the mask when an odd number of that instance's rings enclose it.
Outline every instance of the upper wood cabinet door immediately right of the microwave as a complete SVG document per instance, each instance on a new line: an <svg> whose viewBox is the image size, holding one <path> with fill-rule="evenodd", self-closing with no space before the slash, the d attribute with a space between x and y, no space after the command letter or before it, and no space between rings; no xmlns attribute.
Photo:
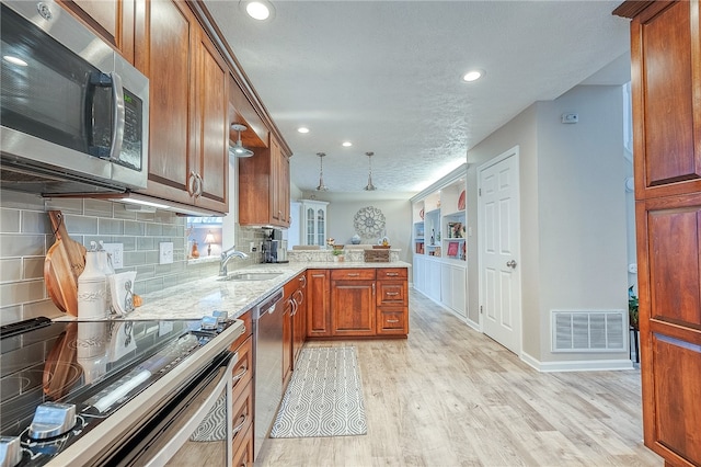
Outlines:
<svg viewBox="0 0 701 467"><path fill-rule="evenodd" d="M148 24L137 31L135 55L137 68L149 78L151 103L149 186L143 192L191 203L191 168L196 166L191 161L195 136L189 112L195 106L192 52L198 24L184 2L153 0L147 9Z"/></svg>

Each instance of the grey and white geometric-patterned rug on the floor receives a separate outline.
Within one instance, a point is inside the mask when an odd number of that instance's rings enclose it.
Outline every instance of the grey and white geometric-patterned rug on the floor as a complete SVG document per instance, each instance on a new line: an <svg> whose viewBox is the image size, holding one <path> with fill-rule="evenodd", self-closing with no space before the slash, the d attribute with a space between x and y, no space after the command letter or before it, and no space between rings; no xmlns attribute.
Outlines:
<svg viewBox="0 0 701 467"><path fill-rule="evenodd" d="M355 348L302 349L271 437L367 433Z"/></svg>

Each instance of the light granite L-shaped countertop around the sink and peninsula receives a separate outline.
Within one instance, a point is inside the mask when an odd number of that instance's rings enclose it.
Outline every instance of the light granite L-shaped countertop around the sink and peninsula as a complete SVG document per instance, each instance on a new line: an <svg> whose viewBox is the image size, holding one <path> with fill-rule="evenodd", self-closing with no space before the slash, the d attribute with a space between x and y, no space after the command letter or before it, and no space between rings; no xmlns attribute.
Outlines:
<svg viewBox="0 0 701 467"><path fill-rule="evenodd" d="M199 319L215 310L225 310L230 318L238 318L308 269L409 266L410 264L403 261L257 264L233 273L279 272L280 275L267 281L220 281L218 276L211 276L168 287L142 295L143 305L130 312L126 319Z"/></svg>

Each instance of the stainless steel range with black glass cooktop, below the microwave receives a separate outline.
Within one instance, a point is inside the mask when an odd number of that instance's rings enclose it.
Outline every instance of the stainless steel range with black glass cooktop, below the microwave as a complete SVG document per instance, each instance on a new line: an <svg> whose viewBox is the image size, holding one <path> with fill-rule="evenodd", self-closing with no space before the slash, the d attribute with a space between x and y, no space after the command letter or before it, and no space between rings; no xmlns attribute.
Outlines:
<svg viewBox="0 0 701 467"><path fill-rule="evenodd" d="M229 368L238 358L229 348L243 323L216 315L196 321L38 318L3 326L0 465L177 458L215 409L229 406ZM226 453L231 422L222 423L204 440L219 442Z"/></svg>

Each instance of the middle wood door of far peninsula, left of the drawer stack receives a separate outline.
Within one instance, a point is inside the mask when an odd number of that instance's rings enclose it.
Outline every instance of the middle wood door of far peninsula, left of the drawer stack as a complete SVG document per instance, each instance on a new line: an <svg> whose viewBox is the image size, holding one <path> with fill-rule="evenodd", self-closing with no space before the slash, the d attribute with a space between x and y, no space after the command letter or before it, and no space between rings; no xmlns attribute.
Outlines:
<svg viewBox="0 0 701 467"><path fill-rule="evenodd" d="M333 281L333 335L375 335L375 281Z"/></svg>

